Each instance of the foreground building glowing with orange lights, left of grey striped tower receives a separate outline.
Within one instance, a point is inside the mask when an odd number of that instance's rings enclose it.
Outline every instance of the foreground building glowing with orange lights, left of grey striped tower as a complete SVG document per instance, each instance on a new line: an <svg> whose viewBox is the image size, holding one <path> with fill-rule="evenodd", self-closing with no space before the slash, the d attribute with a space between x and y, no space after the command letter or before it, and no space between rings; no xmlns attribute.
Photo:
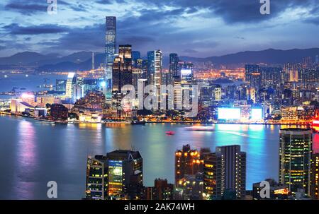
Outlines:
<svg viewBox="0 0 319 214"><path fill-rule="evenodd" d="M175 153L175 185L179 186L186 174L196 174L203 170L203 160L198 150L192 150L191 145L183 145Z"/></svg>

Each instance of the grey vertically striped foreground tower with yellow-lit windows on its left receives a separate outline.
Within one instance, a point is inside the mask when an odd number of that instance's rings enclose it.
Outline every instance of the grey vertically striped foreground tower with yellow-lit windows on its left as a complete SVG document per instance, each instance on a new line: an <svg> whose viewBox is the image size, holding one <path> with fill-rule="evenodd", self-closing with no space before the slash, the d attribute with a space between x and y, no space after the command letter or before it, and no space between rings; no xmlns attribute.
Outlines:
<svg viewBox="0 0 319 214"><path fill-rule="evenodd" d="M246 153L240 145L216 147L203 159L203 198L221 199L225 191L235 191L236 198L245 196Z"/></svg>

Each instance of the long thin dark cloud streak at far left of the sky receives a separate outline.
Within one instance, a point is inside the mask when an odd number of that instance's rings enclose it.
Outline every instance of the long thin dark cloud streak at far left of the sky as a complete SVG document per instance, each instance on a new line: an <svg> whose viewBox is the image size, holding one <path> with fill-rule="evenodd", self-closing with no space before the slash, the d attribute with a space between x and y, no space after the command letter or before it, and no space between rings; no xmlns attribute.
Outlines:
<svg viewBox="0 0 319 214"><path fill-rule="evenodd" d="M11 24L2 28L9 31L11 35L40 35L67 32L66 27L59 25L30 25L23 27L18 24Z"/></svg>

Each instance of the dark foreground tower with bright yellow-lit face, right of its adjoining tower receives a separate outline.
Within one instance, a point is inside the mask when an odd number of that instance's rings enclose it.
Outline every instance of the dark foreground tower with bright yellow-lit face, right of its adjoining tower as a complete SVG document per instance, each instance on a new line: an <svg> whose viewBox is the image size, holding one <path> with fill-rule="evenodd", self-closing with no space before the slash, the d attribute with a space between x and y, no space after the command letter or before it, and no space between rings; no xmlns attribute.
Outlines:
<svg viewBox="0 0 319 214"><path fill-rule="evenodd" d="M106 154L108 197L136 199L142 192L142 156L138 151L116 150Z"/></svg>

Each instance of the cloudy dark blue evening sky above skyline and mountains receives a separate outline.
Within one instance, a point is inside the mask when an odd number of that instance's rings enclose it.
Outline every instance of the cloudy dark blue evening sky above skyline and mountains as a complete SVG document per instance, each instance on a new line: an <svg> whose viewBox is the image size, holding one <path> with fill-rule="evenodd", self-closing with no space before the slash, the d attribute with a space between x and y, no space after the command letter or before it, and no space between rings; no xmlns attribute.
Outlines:
<svg viewBox="0 0 319 214"><path fill-rule="evenodd" d="M246 50L319 47L319 0L1 0L0 57L35 51L103 52L105 16L118 18L118 44L142 55L162 49L193 57Z"/></svg>

